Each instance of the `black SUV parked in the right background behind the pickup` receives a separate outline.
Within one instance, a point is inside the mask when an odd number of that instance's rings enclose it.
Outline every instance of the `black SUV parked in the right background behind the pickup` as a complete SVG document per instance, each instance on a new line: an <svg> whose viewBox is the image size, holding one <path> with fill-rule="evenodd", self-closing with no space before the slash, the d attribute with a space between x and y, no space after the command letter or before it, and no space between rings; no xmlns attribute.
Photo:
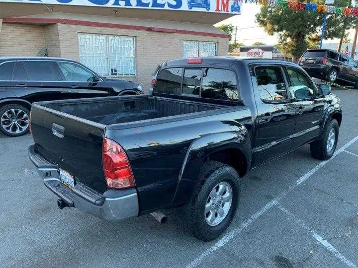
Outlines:
<svg viewBox="0 0 358 268"><path fill-rule="evenodd" d="M358 64L350 57L330 49L308 49L298 64L312 77L358 88Z"/></svg>

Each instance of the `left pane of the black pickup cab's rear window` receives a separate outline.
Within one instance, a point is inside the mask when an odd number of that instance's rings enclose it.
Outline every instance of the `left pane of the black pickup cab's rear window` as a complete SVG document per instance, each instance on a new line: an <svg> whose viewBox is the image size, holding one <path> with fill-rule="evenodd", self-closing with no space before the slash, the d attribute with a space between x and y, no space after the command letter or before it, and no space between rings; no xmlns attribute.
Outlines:
<svg viewBox="0 0 358 268"><path fill-rule="evenodd" d="M167 68L160 70L154 92L165 94L181 94L182 68Z"/></svg>

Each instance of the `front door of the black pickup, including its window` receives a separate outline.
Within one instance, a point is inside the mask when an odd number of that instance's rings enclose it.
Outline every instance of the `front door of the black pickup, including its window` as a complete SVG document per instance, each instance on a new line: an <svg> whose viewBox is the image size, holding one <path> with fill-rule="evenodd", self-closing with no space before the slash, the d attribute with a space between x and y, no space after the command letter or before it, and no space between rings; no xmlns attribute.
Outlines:
<svg viewBox="0 0 358 268"><path fill-rule="evenodd" d="M295 148L319 135L325 97L318 96L316 86L304 71L292 66L286 66L286 70L292 103L297 111L292 146Z"/></svg>

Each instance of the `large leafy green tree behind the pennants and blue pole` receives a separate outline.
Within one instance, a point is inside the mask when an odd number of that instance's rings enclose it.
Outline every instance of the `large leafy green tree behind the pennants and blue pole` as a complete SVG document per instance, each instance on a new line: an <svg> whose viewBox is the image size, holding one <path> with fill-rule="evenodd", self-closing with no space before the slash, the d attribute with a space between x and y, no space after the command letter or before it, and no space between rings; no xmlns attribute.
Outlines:
<svg viewBox="0 0 358 268"><path fill-rule="evenodd" d="M311 3L324 4L324 0L311 0ZM336 6L347 6L349 0L336 0ZM283 6L274 8L262 6L256 20L269 35L278 34L279 47L285 49L288 57L299 58L310 45L315 45L316 36L320 35L323 13L306 10L292 10ZM327 14L325 39L340 38L345 25L353 27L352 16ZM310 41L311 39L311 41ZM311 42L311 44L310 44Z"/></svg>

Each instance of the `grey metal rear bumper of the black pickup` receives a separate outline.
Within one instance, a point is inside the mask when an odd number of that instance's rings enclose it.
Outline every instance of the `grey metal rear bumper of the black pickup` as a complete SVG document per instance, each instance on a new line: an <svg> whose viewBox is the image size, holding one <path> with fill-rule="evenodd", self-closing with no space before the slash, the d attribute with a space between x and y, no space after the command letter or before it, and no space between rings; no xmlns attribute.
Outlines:
<svg viewBox="0 0 358 268"><path fill-rule="evenodd" d="M137 191L108 190L103 195L77 182L72 191L60 182L60 171L55 165L35 152L34 145L29 147L29 158L45 186L69 206L76 207L105 221L118 222L138 216Z"/></svg>

